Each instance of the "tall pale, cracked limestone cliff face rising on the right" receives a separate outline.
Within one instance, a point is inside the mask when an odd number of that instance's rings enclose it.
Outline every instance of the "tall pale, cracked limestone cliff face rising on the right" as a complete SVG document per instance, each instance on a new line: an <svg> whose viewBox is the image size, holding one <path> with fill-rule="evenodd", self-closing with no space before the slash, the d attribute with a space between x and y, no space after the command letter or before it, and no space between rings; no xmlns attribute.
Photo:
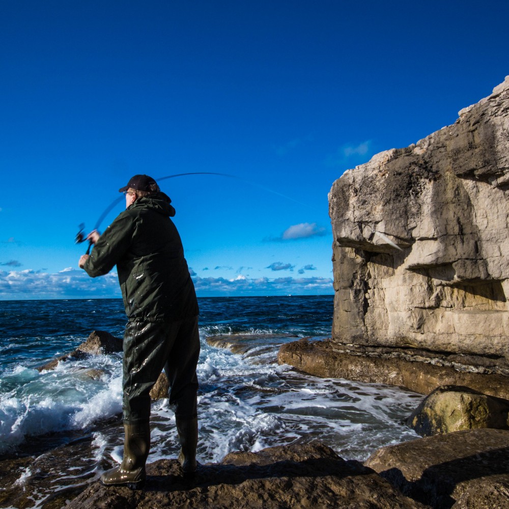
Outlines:
<svg viewBox="0 0 509 509"><path fill-rule="evenodd" d="M329 194L338 343L509 360L509 76Z"/></svg>

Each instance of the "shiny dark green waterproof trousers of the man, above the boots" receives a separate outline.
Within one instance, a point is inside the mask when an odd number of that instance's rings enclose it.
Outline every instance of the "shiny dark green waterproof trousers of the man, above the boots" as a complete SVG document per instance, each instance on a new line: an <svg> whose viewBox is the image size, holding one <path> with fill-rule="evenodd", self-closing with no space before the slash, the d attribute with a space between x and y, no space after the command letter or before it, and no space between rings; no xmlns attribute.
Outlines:
<svg viewBox="0 0 509 509"><path fill-rule="evenodd" d="M196 417L198 317L170 323L127 322L124 334L123 421L150 417L150 389L164 369L169 403L181 419Z"/></svg>

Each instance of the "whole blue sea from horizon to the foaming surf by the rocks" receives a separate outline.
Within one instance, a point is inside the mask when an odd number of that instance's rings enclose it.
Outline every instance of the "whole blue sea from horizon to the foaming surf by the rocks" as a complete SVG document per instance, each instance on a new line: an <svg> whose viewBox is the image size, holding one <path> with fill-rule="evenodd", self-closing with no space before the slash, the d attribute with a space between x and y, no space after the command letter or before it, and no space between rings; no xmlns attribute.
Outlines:
<svg viewBox="0 0 509 509"><path fill-rule="evenodd" d="M235 450L319 440L344 459L418 438L405 419L422 396L407 389L317 378L277 363L282 343L326 340L332 296L200 298L197 366L200 463ZM36 368L93 330L122 337L121 299L0 301L0 507L60 507L122 459L122 354ZM248 334L242 354L210 346ZM249 343L250 344L250 343ZM175 416L152 404L148 462L176 458Z"/></svg>

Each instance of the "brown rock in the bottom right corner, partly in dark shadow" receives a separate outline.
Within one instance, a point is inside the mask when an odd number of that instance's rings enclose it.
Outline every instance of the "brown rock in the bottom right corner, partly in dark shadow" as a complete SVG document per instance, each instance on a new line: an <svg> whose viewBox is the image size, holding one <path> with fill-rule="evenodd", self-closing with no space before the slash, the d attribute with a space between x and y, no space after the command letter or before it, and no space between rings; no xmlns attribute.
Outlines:
<svg viewBox="0 0 509 509"><path fill-rule="evenodd" d="M509 431L457 431L390 445L364 465L437 509L509 508Z"/></svg>

